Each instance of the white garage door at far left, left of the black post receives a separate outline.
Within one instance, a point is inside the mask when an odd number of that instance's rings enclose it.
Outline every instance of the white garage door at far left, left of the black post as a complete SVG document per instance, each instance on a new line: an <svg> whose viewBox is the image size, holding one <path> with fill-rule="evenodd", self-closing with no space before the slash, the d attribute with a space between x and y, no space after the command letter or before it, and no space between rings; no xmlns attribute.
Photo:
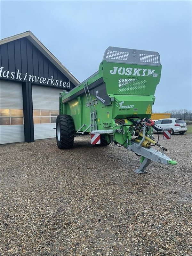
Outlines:
<svg viewBox="0 0 192 256"><path fill-rule="evenodd" d="M22 85L0 80L0 144L24 140Z"/></svg>

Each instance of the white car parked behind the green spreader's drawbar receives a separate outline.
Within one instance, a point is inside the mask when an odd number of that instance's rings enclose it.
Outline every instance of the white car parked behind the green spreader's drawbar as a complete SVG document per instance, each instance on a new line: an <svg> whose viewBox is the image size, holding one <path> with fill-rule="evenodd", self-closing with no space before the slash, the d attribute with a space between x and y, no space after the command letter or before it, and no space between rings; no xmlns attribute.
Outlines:
<svg viewBox="0 0 192 256"><path fill-rule="evenodd" d="M162 129L164 128L170 129L171 134L174 134L176 132L179 132L180 134L184 134L185 132L187 132L187 124L183 119L179 119L179 118L159 119L155 121L155 125L161 127Z"/></svg>

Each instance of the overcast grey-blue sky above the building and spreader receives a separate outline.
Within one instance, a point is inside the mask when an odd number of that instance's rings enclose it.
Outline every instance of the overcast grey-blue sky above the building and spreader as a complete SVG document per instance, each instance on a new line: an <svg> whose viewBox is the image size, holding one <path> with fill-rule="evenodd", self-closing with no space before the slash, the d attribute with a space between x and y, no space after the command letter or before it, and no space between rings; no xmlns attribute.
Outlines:
<svg viewBox="0 0 192 256"><path fill-rule="evenodd" d="M0 38L30 30L80 81L108 46L157 51L153 111L192 107L191 1L0 1Z"/></svg>

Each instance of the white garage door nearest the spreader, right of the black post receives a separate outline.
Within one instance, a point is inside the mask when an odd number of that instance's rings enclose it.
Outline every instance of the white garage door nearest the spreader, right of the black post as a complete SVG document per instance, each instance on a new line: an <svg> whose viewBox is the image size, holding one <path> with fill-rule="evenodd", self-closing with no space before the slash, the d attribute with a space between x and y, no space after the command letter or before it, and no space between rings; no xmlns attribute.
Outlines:
<svg viewBox="0 0 192 256"><path fill-rule="evenodd" d="M55 137L56 118L59 115L59 93L62 90L33 86L34 139Z"/></svg>

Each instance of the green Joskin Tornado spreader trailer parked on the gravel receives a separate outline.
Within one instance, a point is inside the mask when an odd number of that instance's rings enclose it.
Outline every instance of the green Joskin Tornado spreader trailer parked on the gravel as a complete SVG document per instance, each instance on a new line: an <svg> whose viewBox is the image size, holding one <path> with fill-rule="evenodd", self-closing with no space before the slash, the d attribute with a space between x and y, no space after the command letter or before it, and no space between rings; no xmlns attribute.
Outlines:
<svg viewBox="0 0 192 256"><path fill-rule="evenodd" d="M60 94L58 148L71 148L77 134L91 134L92 144L114 142L140 156L136 173L146 172L151 160L176 164L153 137L153 128L160 131L150 119L160 76L158 52L108 47L99 71Z"/></svg>

